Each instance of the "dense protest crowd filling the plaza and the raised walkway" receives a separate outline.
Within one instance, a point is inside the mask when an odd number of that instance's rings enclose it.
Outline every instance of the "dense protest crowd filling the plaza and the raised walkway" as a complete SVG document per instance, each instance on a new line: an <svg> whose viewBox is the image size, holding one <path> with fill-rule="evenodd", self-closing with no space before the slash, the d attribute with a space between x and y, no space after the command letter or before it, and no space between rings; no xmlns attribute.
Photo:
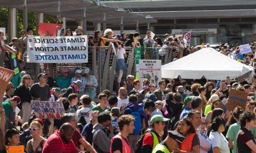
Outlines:
<svg viewBox="0 0 256 153"><path fill-rule="evenodd" d="M62 23L57 22L56 36L73 36ZM0 53L5 54L0 62L19 73L7 84L1 101L0 152L8 152L11 146L23 146L22 152L28 153L256 152L256 75L249 79L224 76L225 80L163 78L157 85L125 76L126 47L139 49L141 59L146 60L156 56L154 47L160 48L160 56L170 49L173 61L210 47L190 46L183 36L152 38L151 33L147 31L143 37L139 33L115 35L107 29L103 34L96 31L88 36L88 46L113 43L117 48L117 93L111 93L97 91L98 81L88 67L76 69L73 78L68 77L68 69L62 68L56 80L48 71L32 80L23 59L33 29L21 31L21 37L9 43L4 42L0 31ZM78 27L76 36L81 35L83 31ZM233 53L234 60L255 71L256 41L249 45L252 52L247 54L240 53L238 43L220 43L215 49L226 56ZM98 62L104 62L106 53L99 53L103 60ZM232 90L247 98L243 106L230 110Z"/></svg>

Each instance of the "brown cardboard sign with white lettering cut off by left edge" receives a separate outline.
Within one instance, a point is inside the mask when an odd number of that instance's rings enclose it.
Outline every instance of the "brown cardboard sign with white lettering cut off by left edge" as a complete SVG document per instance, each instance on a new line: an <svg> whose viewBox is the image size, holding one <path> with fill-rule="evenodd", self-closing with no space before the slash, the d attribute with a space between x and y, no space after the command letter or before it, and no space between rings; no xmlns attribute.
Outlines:
<svg viewBox="0 0 256 153"><path fill-rule="evenodd" d="M6 69L4 67L0 67L0 105L2 105L3 102L3 96L5 93L5 88L7 87L8 83L12 79L12 75L14 74L14 71Z"/></svg>

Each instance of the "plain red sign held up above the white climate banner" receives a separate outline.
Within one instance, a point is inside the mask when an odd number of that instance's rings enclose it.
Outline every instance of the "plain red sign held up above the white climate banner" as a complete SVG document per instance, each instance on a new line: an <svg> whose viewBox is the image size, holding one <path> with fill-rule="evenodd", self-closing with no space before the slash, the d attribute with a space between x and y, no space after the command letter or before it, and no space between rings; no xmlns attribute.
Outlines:
<svg viewBox="0 0 256 153"><path fill-rule="evenodd" d="M38 34L43 36L56 36L55 23L39 23Z"/></svg>

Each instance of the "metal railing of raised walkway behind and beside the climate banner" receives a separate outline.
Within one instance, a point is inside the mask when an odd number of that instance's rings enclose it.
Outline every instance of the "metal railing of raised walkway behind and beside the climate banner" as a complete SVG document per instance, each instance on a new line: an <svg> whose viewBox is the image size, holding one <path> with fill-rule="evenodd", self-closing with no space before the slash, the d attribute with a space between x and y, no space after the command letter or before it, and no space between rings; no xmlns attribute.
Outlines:
<svg viewBox="0 0 256 153"><path fill-rule="evenodd" d="M167 64L173 59L171 49L153 48L131 48L125 47L127 58L125 64L127 70L123 72L122 81L126 80L129 74L136 75L136 52L144 52L141 59L161 60L162 65ZM161 49L161 50L160 50ZM117 52L117 48L116 48ZM150 55L150 56L149 56ZM26 61L26 52L24 55ZM88 63L57 63L57 64L36 64L26 63L25 71L37 82L36 76L39 72L49 70L51 77L56 81L58 75L61 74L61 69L69 70L68 77L72 78L75 75L76 69L81 69L82 74L85 67L90 68L90 73L95 75L98 81L97 93L102 90L109 89L113 92L113 87L116 87L116 78L118 76L116 69L117 56L112 47L88 47Z"/></svg>

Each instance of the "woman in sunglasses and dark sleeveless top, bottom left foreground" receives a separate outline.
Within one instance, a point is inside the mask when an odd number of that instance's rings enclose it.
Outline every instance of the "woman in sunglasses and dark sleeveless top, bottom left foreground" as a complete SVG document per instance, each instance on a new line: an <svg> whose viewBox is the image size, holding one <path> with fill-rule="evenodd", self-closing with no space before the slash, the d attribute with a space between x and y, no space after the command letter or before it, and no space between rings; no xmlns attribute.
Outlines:
<svg viewBox="0 0 256 153"><path fill-rule="evenodd" d="M42 126L38 121L32 121L28 129L33 138L28 141L26 150L28 153L40 153L46 142L46 139L41 136Z"/></svg>

